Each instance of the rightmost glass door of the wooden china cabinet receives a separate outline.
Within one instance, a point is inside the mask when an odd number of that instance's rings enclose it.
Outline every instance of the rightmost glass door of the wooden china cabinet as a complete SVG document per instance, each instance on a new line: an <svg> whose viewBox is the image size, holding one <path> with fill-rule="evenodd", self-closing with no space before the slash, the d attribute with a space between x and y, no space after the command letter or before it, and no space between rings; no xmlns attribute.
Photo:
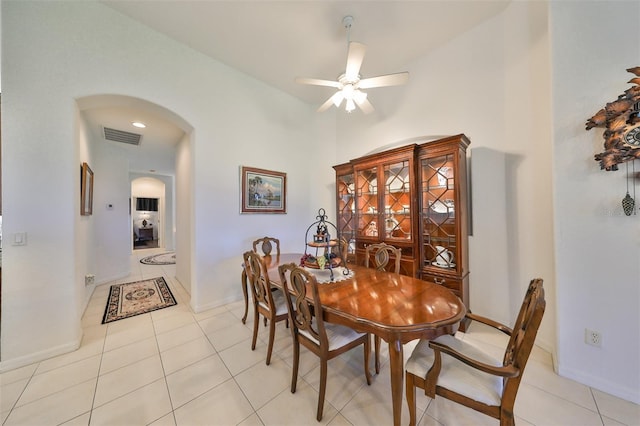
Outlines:
<svg viewBox="0 0 640 426"><path fill-rule="evenodd" d="M454 154L420 160L423 267L456 268L456 180Z"/></svg>

